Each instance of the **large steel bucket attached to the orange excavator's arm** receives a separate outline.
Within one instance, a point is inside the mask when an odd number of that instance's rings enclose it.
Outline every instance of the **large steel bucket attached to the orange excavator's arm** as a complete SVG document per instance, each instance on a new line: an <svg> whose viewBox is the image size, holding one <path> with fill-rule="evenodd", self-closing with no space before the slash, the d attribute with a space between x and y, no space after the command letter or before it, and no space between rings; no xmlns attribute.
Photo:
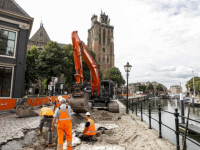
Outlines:
<svg viewBox="0 0 200 150"><path fill-rule="evenodd" d="M87 93L83 93L81 96L70 97L70 106L75 113L86 113L90 111L88 104L89 96Z"/></svg>

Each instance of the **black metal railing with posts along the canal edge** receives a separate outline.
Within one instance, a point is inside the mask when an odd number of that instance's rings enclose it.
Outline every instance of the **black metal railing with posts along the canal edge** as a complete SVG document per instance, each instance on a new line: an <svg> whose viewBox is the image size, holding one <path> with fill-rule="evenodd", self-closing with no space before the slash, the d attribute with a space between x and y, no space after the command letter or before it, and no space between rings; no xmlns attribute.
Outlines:
<svg viewBox="0 0 200 150"><path fill-rule="evenodd" d="M124 104L124 101L122 100L119 100L121 103ZM175 108L175 112L169 112L169 111L166 111L164 109L161 108L160 104L158 105L158 108L154 108L154 109L157 109L157 113L158 113L158 120L153 118L151 116L151 110L152 110L152 107L151 107L151 103L149 102L148 103L148 114L144 113L143 112L143 103L144 101L139 101L139 99L137 101L133 100L133 99L130 99L129 100L129 103L128 103L128 107L129 107L129 110L132 111L132 113L134 112L134 109L135 109L135 115L138 116L138 112L140 111L140 118L141 118L141 121L143 121L143 115L147 116L148 117L148 124L149 124L149 129L152 129L152 125L151 125L151 120L154 120L156 122L158 122L158 126L159 126L159 129L158 129L158 132L159 132L159 138L162 138L162 125L165 126L166 128L168 128L169 130L171 131L174 131L175 135L176 135L176 148L177 150L180 150L180 143L179 143L179 135L184 137L184 135L179 131L179 117L183 117L185 119L188 119L188 120L191 120L191 121L194 121L194 122L197 122L197 123L200 123L200 121L197 121L197 120L194 120L194 119L191 119L191 118L187 118L185 116L181 116L178 112L178 108ZM135 107L135 108L134 108ZM162 112L166 112L166 113L169 113L171 115L174 115L175 116L175 129L172 129L171 127L169 127L168 125L164 124L162 122L162 117L161 117L161 113ZM186 127L185 130L188 130L188 128ZM193 140L191 140L190 138L187 137L186 135L186 139L189 140L190 142L192 142L193 144L197 145L200 147L200 143L197 143Z"/></svg>

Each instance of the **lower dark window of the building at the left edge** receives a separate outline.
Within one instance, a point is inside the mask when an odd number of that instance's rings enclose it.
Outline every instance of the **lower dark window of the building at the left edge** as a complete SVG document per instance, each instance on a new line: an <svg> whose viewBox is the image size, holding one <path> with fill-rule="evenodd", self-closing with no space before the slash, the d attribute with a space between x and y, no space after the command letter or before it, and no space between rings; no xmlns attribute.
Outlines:
<svg viewBox="0 0 200 150"><path fill-rule="evenodd" d="M0 97L11 95L12 68L0 66Z"/></svg>

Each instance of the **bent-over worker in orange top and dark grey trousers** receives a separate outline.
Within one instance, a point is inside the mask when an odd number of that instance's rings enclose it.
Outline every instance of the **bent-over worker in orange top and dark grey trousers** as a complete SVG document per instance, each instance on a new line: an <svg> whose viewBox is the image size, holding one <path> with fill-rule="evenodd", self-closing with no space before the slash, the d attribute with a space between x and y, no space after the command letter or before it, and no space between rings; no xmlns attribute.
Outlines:
<svg viewBox="0 0 200 150"><path fill-rule="evenodd" d="M48 123L48 147L53 147L55 146L56 144L52 142L52 132L51 132L51 125L52 125L52 121L53 121L53 115L54 115L54 112L51 108L49 108L48 106L45 106L43 107L41 110L40 110L40 117L41 120L40 120L40 125L39 125L39 134L42 134L42 129L43 129L43 126L44 126L44 122L47 122Z"/></svg>

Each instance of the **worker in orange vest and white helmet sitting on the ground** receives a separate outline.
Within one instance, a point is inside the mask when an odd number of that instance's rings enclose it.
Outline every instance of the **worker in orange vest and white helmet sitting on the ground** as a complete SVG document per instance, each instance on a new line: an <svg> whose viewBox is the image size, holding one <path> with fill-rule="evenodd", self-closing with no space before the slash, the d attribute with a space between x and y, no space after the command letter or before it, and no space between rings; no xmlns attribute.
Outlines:
<svg viewBox="0 0 200 150"><path fill-rule="evenodd" d="M82 134L79 135L79 138L82 141L87 141L89 138L96 135L94 121L90 118L91 114L89 112L87 112L85 115L86 115L85 117L87 119L87 122L85 124L85 128L84 128Z"/></svg>

